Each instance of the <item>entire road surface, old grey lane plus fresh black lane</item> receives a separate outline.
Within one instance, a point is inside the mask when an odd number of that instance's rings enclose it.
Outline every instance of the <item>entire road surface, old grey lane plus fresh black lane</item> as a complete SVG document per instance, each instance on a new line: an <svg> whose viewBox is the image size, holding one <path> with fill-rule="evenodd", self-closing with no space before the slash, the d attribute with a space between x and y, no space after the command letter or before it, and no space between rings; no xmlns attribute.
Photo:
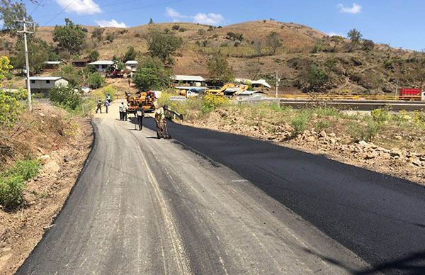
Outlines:
<svg viewBox="0 0 425 275"><path fill-rule="evenodd" d="M424 188L172 123L157 140L112 111L18 274L425 274Z"/></svg>

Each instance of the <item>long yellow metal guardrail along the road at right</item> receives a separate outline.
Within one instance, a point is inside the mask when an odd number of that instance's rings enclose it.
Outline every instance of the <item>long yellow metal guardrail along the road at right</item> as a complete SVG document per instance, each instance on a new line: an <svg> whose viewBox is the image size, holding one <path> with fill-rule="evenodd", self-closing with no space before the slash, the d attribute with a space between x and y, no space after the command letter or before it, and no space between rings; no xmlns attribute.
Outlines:
<svg viewBox="0 0 425 275"><path fill-rule="evenodd" d="M270 95L274 97L273 95ZM421 96L370 96L370 95L339 95L339 94L281 94L278 99L308 99L308 100L382 100L382 101L421 101Z"/></svg>

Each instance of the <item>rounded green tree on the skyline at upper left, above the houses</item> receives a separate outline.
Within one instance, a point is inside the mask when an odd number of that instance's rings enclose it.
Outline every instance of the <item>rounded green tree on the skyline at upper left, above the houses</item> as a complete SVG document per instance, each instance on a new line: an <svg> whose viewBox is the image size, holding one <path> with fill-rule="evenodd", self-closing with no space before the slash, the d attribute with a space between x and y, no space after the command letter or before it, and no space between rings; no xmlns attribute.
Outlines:
<svg viewBox="0 0 425 275"><path fill-rule="evenodd" d="M59 50L66 50L69 54L79 53L86 40L86 33L81 26L75 25L69 18L65 18L65 26L55 26L53 41Z"/></svg>

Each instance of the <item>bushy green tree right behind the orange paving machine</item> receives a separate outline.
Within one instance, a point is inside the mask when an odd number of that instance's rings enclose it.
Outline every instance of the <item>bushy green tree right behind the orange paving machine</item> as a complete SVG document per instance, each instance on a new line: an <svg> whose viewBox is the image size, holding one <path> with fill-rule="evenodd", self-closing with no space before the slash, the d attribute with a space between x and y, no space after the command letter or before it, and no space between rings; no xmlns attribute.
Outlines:
<svg viewBox="0 0 425 275"><path fill-rule="evenodd" d="M140 60L133 82L142 91L166 89L170 84L171 72L157 57Z"/></svg>

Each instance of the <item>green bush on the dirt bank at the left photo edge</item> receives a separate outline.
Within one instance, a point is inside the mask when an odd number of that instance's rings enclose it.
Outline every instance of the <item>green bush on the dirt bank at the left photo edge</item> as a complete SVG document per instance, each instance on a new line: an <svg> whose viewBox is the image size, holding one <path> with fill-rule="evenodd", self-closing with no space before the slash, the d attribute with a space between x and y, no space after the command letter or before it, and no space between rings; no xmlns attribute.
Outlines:
<svg viewBox="0 0 425 275"><path fill-rule="evenodd" d="M13 210L23 203L23 190L26 181L37 176L40 162L25 160L0 174L0 204L7 210Z"/></svg>

